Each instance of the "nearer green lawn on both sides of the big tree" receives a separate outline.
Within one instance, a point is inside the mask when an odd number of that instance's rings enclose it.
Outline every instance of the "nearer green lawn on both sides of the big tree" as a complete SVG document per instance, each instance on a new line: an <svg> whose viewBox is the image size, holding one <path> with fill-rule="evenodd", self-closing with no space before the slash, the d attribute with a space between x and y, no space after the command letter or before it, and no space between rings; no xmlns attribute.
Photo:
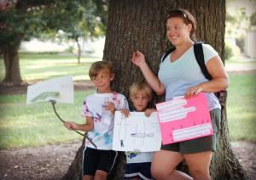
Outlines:
<svg viewBox="0 0 256 180"><path fill-rule="evenodd" d="M231 140L256 142L255 78L256 75L230 74L227 112ZM92 92L75 92L75 103L56 104L57 111L65 120L82 123L81 102ZM0 110L0 149L67 143L82 138L62 126L51 104L26 105L26 95L0 96Z"/></svg>

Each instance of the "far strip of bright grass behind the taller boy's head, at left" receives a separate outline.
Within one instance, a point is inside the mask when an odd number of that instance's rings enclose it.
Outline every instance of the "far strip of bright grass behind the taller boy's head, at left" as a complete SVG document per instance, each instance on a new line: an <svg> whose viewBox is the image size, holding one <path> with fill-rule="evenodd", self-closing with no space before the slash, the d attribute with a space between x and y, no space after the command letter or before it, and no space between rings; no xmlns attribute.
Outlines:
<svg viewBox="0 0 256 180"><path fill-rule="evenodd" d="M88 70L96 57L82 57L81 63L71 55L20 54L20 74L24 81L48 79L56 76L73 76L73 80L90 80ZM0 58L0 81L3 80L4 65Z"/></svg>

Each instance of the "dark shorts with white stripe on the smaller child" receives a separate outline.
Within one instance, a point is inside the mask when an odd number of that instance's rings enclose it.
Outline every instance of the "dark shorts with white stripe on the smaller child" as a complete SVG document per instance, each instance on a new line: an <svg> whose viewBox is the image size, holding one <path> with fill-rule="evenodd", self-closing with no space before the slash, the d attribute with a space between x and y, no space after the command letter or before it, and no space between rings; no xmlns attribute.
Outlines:
<svg viewBox="0 0 256 180"><path fill-rule="evenodd" d="M151 162L129 163L126 164L125 180L132 177L139 177L140 179L153 179L150 173Z"/></svg>

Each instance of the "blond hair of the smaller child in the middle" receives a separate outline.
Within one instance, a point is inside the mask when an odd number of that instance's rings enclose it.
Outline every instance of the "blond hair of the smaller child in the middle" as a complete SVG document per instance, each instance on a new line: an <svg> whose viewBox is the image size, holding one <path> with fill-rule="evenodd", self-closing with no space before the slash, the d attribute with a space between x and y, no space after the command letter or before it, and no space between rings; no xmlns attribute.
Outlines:
<svg viewBox="0 0 256 180"><path fill-rule="evenodd" d="M138 92L143 92L149 100L152 98L152 89L149 87L147 82L134 82L129 88L130 98L133 98L137 95Z"/></svg>

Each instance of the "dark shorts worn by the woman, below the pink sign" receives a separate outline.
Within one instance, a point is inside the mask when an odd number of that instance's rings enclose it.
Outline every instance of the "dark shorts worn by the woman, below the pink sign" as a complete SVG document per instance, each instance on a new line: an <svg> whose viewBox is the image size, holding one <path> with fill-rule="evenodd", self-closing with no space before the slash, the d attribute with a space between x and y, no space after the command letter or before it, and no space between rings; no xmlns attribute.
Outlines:
<svg viewBox="0 0 256 180"><path fill-rule="evenodd" d="M213 127L212 136L195 138L179 143L162 144L161 149L180 152L181 154L216 151L216 146L218 143L218 131L220 130L221 111L219 109L211 110L210 115Z"/></svg>

